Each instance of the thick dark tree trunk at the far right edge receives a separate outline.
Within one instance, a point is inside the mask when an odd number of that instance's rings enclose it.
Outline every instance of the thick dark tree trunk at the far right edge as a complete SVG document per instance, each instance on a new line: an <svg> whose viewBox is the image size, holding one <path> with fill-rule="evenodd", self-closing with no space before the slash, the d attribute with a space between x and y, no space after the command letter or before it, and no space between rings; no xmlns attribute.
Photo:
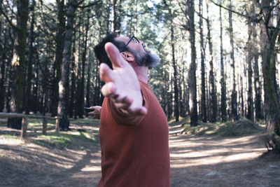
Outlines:
<svg viewBox="0 0 280 187"><path fill-rule="evenodd" d="M265 90L265 120L267 130L274 130L276 134L280 135L280 106L273 74L274 57L276 55L275 43L279 35L280 18L277 18L276 28L271 30L271 22L269 22L269 18L271 18L270 3L272 4L272 1L262 1L260 4L260 8L263 10L262 16L266 20L266 22L260 23L260 47Z"/></svg>

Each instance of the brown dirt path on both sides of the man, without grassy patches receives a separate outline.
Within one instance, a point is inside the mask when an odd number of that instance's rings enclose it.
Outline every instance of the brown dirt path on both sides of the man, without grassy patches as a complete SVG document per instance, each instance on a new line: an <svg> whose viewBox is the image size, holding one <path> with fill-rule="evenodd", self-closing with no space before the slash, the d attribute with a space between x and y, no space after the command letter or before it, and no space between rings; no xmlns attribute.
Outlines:
<svg viewBox="0 0 280 187"><path fill-rule="evenodd" d="M98 125L77 128L98 134ZM173 125L170 132L180 129ZM279 157L258 158L266 152L263 138L263 134L170 134L172 186L279 186ZM0 186L97 186L101 176L98 142L80 142L83 149L59 149L38 146L31 139L24 144L0 139Z"/></svg>

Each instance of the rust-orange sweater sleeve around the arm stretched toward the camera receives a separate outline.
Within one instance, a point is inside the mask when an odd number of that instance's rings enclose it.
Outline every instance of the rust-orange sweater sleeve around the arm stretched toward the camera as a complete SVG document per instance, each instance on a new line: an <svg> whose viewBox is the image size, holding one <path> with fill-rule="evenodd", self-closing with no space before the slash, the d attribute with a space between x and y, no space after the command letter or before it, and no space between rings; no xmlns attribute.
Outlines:
<svg viewBox="0 0 280 187"><path fill-rule="evenodd" d="M148 102L146 98L145 89L141 88L141 92L143 97L143 106L145 106L146 109L148 110ZM145 116L137 116L137 117L130 116L129 114L123 113L123 111L118 109L115 106L115 104L113 104L112 99L109 99L108 102L109 102L109 108L113 116L113 119L116 121L118 125L128 125L128 126L139 125L141 123L141 120L143 120L143 118L145 117Z"/></svg>

